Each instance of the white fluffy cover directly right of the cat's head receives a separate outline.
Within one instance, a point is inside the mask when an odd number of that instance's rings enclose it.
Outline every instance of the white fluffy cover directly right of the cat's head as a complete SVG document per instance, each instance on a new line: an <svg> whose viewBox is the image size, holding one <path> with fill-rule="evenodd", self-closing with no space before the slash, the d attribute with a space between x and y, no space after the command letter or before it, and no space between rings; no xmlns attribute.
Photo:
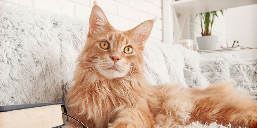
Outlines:
<svg viewBox="0 0 257 128"><path fill-rule="evenodd" d="M152 85L177 83L205 88L209 81L200 73L199 54L181 45L147 42L144 51L147 80Z"/></svg>

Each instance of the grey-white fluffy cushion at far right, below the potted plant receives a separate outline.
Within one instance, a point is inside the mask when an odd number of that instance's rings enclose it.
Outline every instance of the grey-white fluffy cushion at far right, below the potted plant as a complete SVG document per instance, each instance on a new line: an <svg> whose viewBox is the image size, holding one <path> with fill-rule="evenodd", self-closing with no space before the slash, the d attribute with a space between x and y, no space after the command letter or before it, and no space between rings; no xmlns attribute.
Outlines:
<svg viewBox="0 0 257 128"><path fill-rule="evenodd" d="M240 58L238 54L223 54L200 61L202 74L210 81L230 81L240 91L257 99L257 58Z"/></svg>

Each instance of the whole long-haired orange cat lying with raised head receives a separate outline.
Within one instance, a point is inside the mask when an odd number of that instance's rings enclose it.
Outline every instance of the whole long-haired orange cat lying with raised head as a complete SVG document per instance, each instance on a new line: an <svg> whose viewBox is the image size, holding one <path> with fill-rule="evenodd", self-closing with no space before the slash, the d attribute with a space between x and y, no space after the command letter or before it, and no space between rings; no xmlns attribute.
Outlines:
<svg viewBox="0 0 257 128"><path fill-rule="evenodd" d="M179 127L196 121L256 128L256 104L230 84L204 90L149 85L143 49L153 24L147 20L128 31L116 30L94 4L67 96L69 114L91 128Z"/></svg>

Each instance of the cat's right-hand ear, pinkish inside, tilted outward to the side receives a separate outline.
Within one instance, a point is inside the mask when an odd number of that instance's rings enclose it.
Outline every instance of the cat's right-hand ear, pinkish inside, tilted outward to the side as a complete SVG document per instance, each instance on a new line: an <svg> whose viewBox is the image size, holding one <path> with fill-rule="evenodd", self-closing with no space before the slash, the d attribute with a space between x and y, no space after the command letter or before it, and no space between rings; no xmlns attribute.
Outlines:
<svg viewBox="0 0 257 128"><path fill-rule="evenodd" d="M129 30L129 38L134 40L140 48L145 47L145 41L152 31L154 21L154 19L147 20L135 28Z"/></svg>

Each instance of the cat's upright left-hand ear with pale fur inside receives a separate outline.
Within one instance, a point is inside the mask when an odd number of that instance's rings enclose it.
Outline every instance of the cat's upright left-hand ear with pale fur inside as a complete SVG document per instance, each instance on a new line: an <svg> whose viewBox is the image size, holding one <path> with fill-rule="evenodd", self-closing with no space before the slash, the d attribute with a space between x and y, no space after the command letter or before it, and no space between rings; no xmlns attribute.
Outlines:
<svg viewBox="0 0 257 128"><path fill-rule="evenodd" d="M109 24L102 8L100 8L96 2L94 2L90 17L89 17L89 31L91 35L97 35L105 30Z"/></svg>

